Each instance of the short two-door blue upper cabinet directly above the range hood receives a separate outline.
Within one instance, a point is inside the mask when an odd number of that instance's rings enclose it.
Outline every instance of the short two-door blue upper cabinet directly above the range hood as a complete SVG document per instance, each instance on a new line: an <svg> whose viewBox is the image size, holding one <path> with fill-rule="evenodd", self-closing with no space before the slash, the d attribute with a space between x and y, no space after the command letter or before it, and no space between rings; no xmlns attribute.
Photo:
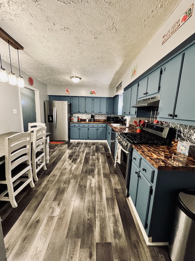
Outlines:
<svg viewBox="0 0 195 261"><path fill-rule="evenodd" d="M159 68L139 82L137 99L144 99L159 92L161 73L162 68Z"/></svg>

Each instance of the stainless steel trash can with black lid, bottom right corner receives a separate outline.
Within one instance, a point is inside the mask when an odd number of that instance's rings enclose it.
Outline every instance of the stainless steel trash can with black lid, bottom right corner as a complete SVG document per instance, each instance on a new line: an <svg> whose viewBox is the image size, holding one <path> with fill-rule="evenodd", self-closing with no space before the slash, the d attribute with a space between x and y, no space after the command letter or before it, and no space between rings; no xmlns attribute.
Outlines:
<svg viewBox="0 0 195 261"><path fill-rule="evenodd" d="M195 260L195 189L178 195L168 253L172 261Z"/></svg>

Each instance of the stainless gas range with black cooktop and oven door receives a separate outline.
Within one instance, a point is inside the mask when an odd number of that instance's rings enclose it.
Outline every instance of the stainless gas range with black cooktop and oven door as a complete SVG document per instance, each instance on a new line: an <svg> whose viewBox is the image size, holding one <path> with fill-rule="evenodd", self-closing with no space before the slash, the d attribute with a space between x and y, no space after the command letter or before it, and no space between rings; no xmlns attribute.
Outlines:
<svg viewBox="0 0 195 261"><path fill-rule="evenodd" d="M122 132L117 136L121 145L121 163L116 162L116 170L124 183L124 194L129 197L129 181L131 173L132 144L171 145L174 139L172 127L146 123L142 132Z"/></svg>

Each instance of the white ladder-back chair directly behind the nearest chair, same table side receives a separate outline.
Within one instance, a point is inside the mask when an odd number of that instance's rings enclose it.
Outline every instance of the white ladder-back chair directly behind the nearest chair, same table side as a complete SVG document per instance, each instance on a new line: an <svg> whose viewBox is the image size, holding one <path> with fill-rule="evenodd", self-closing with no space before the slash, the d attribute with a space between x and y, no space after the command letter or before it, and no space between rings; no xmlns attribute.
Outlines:
<svg viewBox="0 0 195 261"><path fill-rule="evenodd" d="M33 147L32 147L32 167L33 177L38 181L37 172L43 167L47 170L45 165L45 136L47 127L35 128L33 133Z"/></svg>

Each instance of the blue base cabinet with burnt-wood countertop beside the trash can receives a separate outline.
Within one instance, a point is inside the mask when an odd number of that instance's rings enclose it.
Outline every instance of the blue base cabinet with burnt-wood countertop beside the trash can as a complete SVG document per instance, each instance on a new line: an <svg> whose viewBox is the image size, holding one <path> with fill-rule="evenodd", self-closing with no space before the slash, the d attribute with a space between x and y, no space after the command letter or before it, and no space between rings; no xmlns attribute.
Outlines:
<svg viewBox="0 0 195 261"><path fill-rule="evenodd" d="M129 201L147 245L168 244L178 192L195 188L194 166L175 144L133 145Z"/></svg>

